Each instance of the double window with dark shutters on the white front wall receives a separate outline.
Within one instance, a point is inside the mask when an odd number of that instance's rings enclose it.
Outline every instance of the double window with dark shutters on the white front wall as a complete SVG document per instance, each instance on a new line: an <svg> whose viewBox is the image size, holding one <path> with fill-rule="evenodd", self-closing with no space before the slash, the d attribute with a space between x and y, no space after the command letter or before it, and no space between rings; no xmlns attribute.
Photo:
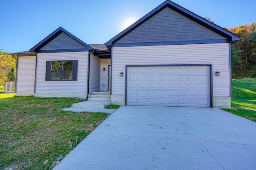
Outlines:
<svg viewBox="0 0 256 170"><path fill-rule="evenodd" d="M78 61L46 61L46 81L77 81Z"/></svg>

